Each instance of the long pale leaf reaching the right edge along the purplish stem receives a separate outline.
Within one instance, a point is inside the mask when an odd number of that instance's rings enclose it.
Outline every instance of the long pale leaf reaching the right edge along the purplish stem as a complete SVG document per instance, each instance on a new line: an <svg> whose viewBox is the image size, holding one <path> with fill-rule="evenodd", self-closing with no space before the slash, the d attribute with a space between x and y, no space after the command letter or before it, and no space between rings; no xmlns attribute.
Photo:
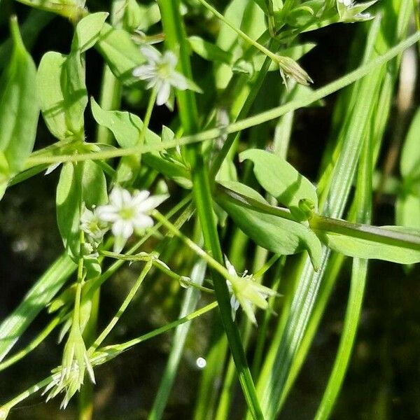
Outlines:
<svg viewBox="0 0 420 420"><path fill-rule="evenodd" d="M381 226L381 229L408 235L419 235L420 239L420 230L402 226ZM399 264L420 262L420 246L414 249L328 232L322 232L318 234L318 237L334 251L350 257L365 258L366 260L386 260Z"/></svg>

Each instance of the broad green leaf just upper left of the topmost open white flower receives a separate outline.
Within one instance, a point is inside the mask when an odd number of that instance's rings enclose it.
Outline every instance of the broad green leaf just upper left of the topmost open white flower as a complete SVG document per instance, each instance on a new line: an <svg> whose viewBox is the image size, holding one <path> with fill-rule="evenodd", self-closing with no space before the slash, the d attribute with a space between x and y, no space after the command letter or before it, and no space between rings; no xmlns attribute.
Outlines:
<svg viewBox="0 0 420 420"><path fill-rule="evenodd" d="M132 73L145 59L127 31L105 23L95 48L120 82L131 85L138 81Z"/></svg>

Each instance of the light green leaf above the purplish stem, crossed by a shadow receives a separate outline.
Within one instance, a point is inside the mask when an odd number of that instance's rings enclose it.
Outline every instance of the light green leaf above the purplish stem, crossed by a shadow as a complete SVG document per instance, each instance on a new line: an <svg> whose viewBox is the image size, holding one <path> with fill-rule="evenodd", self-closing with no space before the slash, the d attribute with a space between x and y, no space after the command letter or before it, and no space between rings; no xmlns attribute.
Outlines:
<svg viewBox="0 0 420 420"><path fill-rule="evenodd" d="M262 188L288 207L297 221L308 218L302 209L303 203L312 205L314 211L318 210L315 187L286 160L260 149L240 153L239 160L243 162L246 159L253 162L254 174Z"/></svg>

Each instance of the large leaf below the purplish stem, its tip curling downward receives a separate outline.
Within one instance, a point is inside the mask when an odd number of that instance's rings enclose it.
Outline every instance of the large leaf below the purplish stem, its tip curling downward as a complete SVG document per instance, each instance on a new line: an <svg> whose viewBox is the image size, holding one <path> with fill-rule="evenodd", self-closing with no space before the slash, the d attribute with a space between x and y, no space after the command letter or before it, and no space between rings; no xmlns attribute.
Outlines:
<svg viewBox="0 0 420 420"><path fill-rule="evenodd" d="M267 204L260 194L242 183L223 181L221 185ZM280 255L290 255L307 250L314 269L318 269L321 258L321 242L306 225L266 214L258 209L250 209L241 202L232 200L224 193L216 195L216 201L235 221L238 228L262 248Z"/></svg>

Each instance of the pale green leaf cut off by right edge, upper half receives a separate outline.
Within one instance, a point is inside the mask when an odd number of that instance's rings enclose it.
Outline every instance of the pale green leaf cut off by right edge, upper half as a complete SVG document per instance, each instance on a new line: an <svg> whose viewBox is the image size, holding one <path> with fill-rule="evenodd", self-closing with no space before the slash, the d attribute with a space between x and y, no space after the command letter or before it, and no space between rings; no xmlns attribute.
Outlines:
<svg viewBox="0 0 420 420"><path fill-rule="evenodd" d="M417 109L407 137L405 137L404 146L402 146L400 170L405 178L415 178L420 175L420 108Z"/></svg>

